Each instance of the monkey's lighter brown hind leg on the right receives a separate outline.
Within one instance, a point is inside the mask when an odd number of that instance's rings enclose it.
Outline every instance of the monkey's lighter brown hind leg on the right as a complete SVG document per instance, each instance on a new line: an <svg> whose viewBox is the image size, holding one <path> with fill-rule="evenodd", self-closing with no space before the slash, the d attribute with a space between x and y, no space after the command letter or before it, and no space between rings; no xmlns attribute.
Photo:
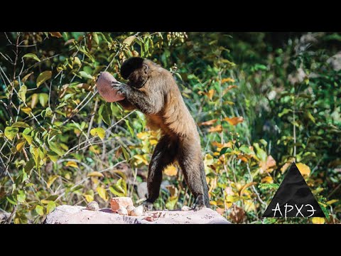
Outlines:
<svg viewBox="0 0 341 256"><path fill-rule="evenodd" d="M209 205L208 193L207 190L204 189L204 184L202 182L202 156L200 144L197 145L193 142L183 142L178 156L178 162L183 170L183 176L187 186L195 197L193 210L200 210L206 205ZM206 200L205 193L207 193ZM205 201L207 202L205 203Z"/></svg>

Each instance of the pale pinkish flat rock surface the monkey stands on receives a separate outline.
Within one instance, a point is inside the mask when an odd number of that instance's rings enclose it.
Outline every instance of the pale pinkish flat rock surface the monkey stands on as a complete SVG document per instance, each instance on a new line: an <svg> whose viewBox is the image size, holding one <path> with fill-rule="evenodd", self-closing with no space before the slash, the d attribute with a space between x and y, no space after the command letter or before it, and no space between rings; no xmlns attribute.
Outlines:
<svg viewBox="0 0 341 256"><path fill-rule="evenodd" d="M153 210L139 217L119 215L109 208L98 211L82 206L58 206L50 213L46 224L229 224L215 210Z"/></svg>

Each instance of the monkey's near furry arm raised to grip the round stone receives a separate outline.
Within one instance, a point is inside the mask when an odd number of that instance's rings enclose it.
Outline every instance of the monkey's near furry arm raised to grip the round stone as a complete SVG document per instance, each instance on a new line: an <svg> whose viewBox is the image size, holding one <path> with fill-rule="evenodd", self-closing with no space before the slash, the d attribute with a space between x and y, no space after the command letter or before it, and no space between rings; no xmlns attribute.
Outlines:
<svg viewBox="0 0 341 256"><path fill-rule="evenodd" d="M112 87L126 97L126 100L144 114L156 114L161 111L163 98L157 91L148 95L123 82L113 82Z"/></svg>

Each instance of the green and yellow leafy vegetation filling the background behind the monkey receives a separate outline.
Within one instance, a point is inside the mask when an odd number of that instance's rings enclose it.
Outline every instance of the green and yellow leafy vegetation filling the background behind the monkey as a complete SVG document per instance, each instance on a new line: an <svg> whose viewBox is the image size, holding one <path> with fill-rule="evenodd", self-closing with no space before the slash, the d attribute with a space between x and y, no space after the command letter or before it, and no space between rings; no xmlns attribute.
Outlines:
<svg viewBox="0 0 341 256"><path fill-rule="evenodd" d="M122 60L139 55L178 82L213 209L232 223L340 223L340 50L341 33L2 33L0 222L144 201L159 134L94 87L104 70L122 80ZM294 159L328 218L261 218ZM192 203L169 166L154 206Z"/></svg>

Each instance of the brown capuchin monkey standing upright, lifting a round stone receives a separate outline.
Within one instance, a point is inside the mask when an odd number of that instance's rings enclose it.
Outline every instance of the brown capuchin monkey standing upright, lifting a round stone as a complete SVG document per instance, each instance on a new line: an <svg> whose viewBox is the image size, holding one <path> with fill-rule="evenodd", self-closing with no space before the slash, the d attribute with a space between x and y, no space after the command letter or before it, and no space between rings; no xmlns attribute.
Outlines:
<svg viewBox="0 0 341 256"><path fill-rule="evenodd" d="M173 75L151 60L133 57L121 65L121 76L129 82L112 82L125 97L119 104L126 110L143 112L150 129L161 129L149 164L144 210L152 210L160 193L162 171L174 161L178 161L195 197L193 210L210 208L199 133Z"/></svg>

